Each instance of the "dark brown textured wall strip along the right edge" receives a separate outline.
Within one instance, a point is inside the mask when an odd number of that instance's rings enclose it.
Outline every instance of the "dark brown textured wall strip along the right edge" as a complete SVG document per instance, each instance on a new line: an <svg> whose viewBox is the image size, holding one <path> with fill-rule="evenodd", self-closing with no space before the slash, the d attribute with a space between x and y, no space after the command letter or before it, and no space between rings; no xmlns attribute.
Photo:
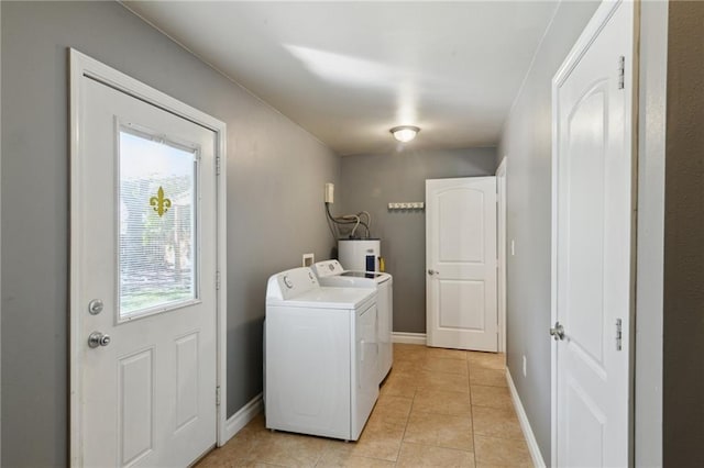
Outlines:
<svg viewBox="0 0 704 468"><path fill-rule="evenodd" d="M664 466L704 466L704 3L670 2Z"/></svg>

